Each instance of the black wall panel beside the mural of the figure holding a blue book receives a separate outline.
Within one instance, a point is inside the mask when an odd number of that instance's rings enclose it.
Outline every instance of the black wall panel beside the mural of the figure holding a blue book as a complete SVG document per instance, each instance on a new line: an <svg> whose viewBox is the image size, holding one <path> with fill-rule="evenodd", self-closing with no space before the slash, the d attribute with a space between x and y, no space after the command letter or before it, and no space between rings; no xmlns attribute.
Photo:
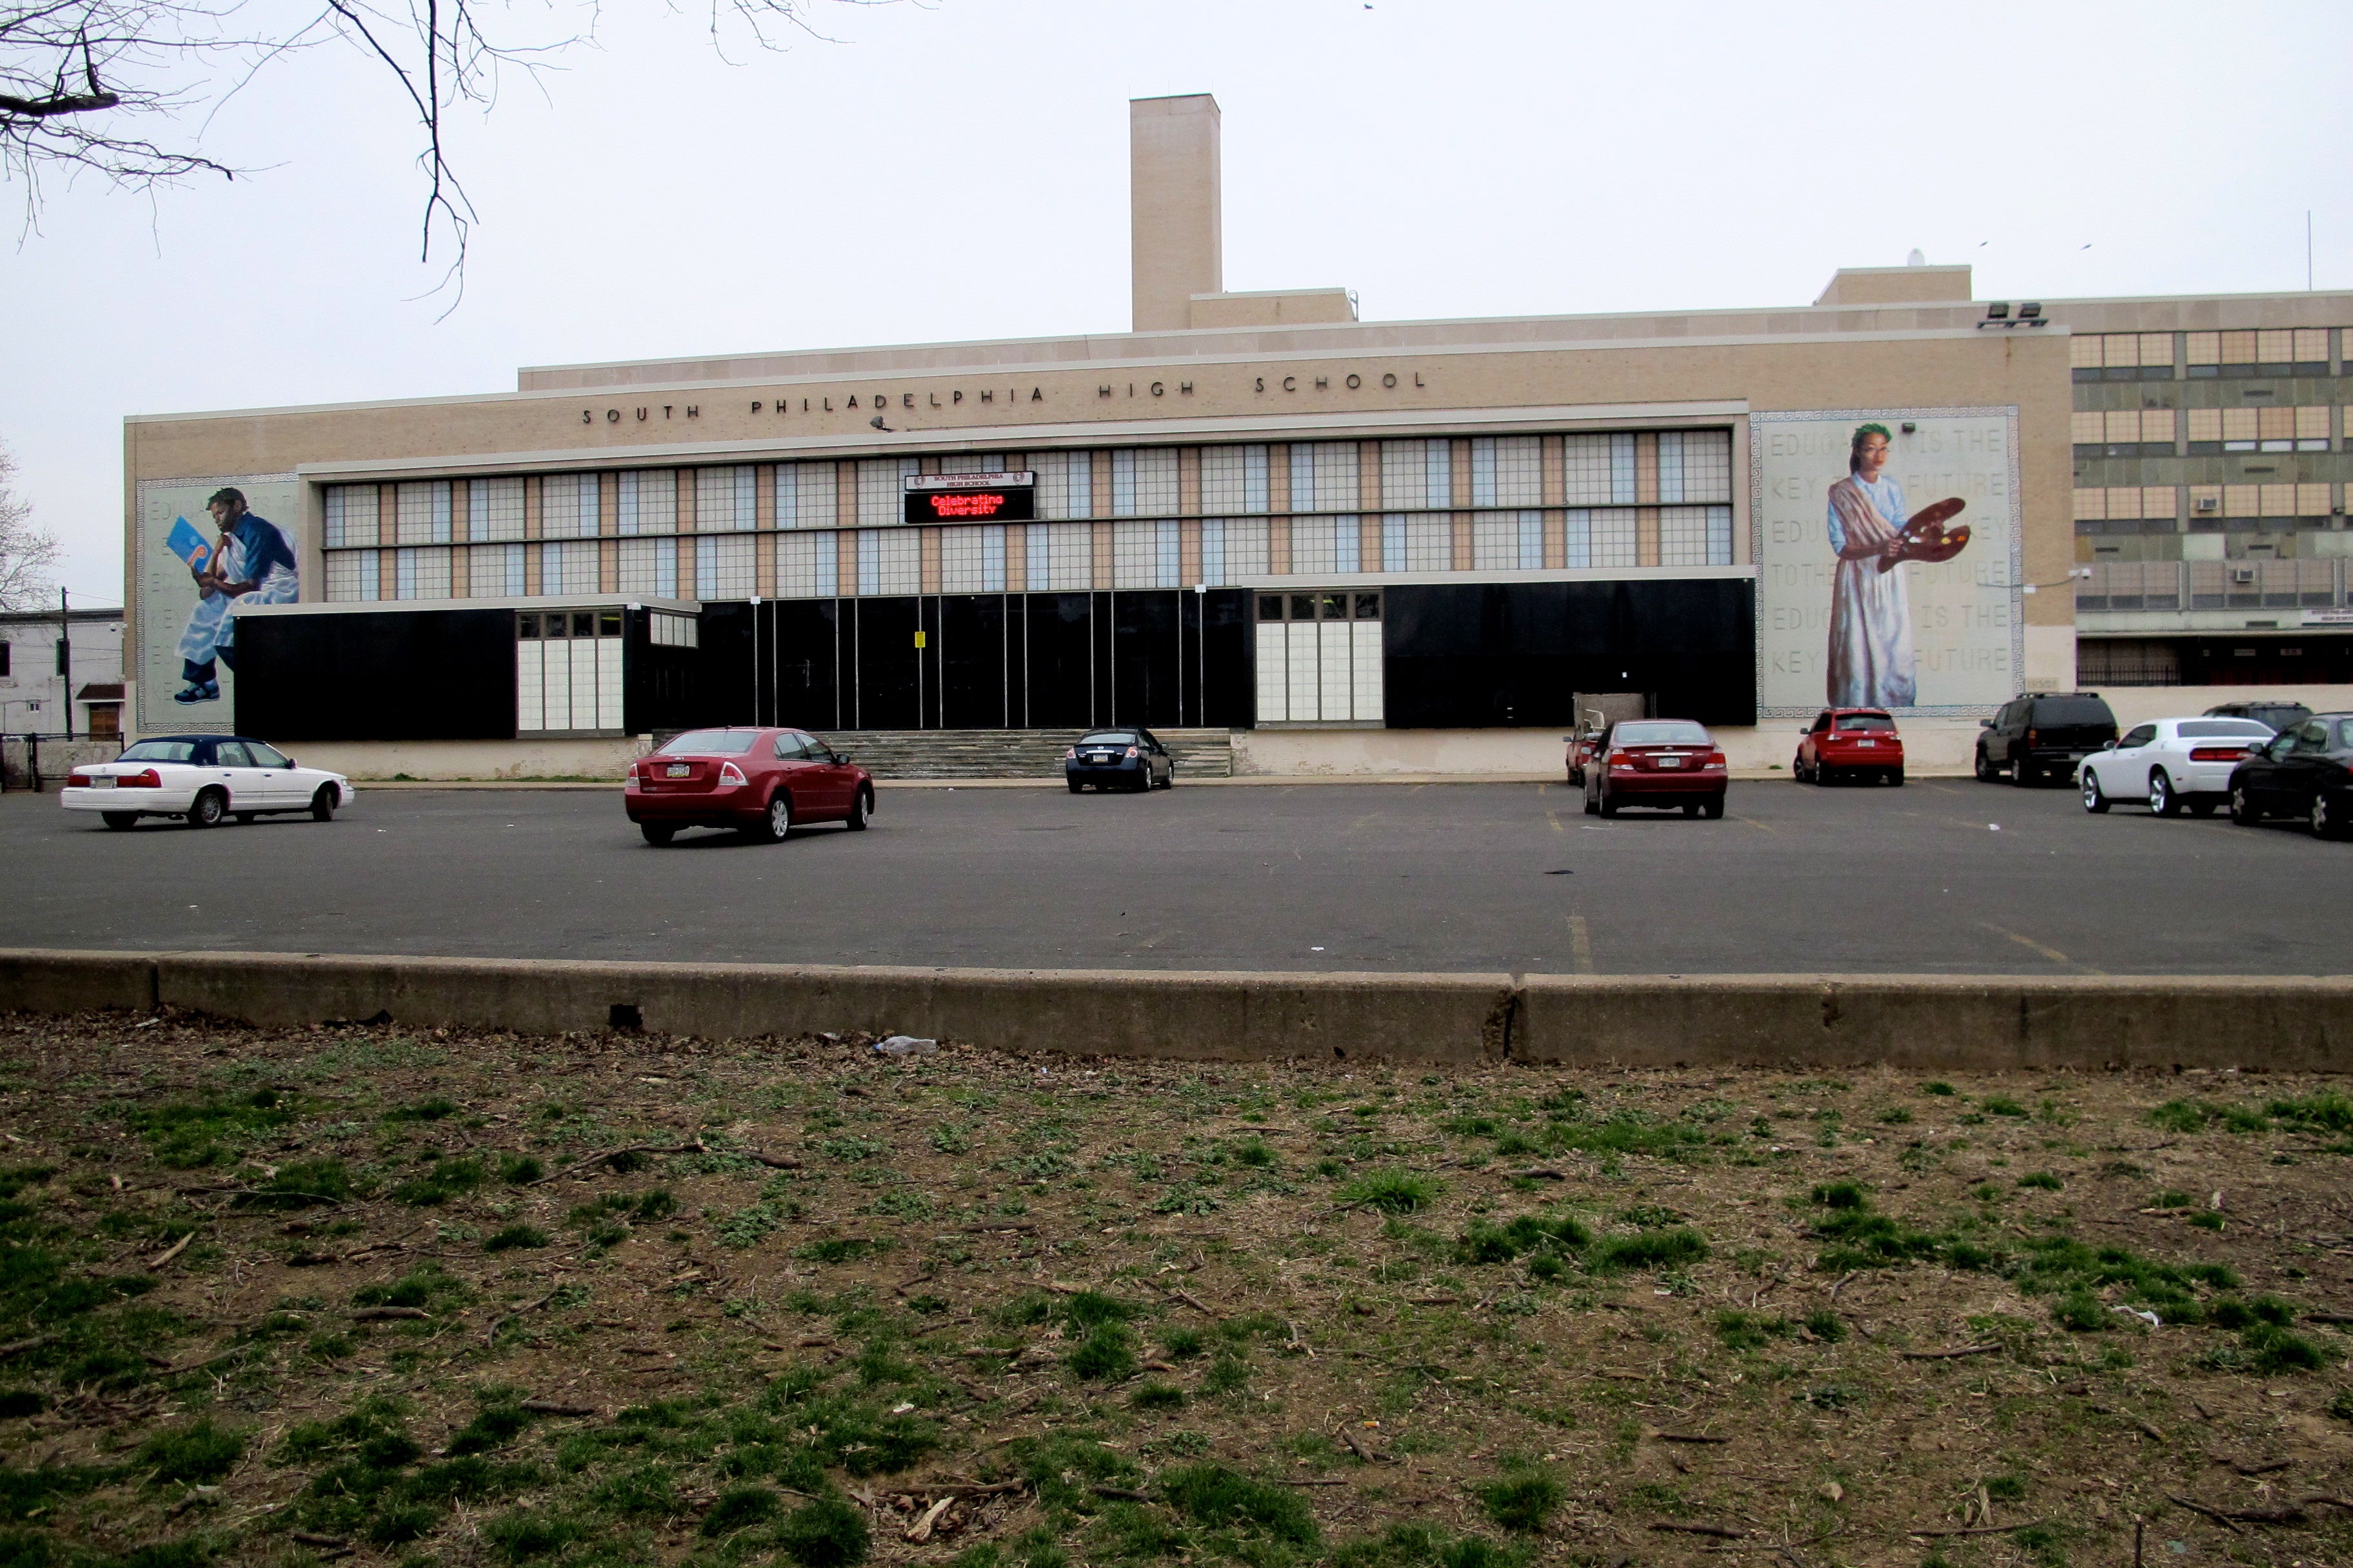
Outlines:
<svg viewBox="0 0 2353 1568"><path fill-rule="evenodd" d="M247 616L235 691L264 741L513 741L515 611Z"/></svg>

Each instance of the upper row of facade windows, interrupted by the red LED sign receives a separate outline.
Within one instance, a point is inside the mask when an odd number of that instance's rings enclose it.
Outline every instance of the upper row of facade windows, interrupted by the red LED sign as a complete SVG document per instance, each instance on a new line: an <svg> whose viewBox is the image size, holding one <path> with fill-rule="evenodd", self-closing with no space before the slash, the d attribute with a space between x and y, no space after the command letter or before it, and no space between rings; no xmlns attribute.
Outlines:
<svg viewBox="0 0 2353 1568"><path fill-rule="evenodd" d="M1548 451L1551 449L1551 451ZM1553 477L1546 470L1553 465ZM421 480L327 489L327 548L741 534L760 527L892 527L915 473L1038 475L1038 515L1176 517L1176 447L969 451L854 463L734 463L546 475L536 482ZM847 496L842 494L847 484ZM1551 494L1548 494L1551 491ZM536 496L536 501L534 501ZM1468 442L1289 442L1200 449L1200 515L1452 510L1537 505L1704 505L1732 501L1727 430L1492 435ZM532 517L536 510L536 531ZM847 512L847 515L845 515Z"/></svg>

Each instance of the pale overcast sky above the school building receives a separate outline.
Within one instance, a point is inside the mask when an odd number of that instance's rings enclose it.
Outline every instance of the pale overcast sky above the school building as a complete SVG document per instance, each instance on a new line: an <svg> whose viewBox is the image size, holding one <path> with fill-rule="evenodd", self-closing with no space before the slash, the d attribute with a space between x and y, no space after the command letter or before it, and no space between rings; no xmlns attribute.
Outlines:
<svg viewBox="0 0 2353 1568"><path fill-rule="evenodd" d="M1127 99L1214 92L1226 287L1367 320L2353 287L2353 7L814 0L720 59L685 5L508 78L428 294L391 85L264 73L256 169L52 186L0 252L0 440L78 599L122 592L122 416L494 393L520 364L1127 327ZM532 7L532 14L539 14ZM21 190L12 188L12 195ZM2346 322L2353 324L2353 322Z"/></svg>

